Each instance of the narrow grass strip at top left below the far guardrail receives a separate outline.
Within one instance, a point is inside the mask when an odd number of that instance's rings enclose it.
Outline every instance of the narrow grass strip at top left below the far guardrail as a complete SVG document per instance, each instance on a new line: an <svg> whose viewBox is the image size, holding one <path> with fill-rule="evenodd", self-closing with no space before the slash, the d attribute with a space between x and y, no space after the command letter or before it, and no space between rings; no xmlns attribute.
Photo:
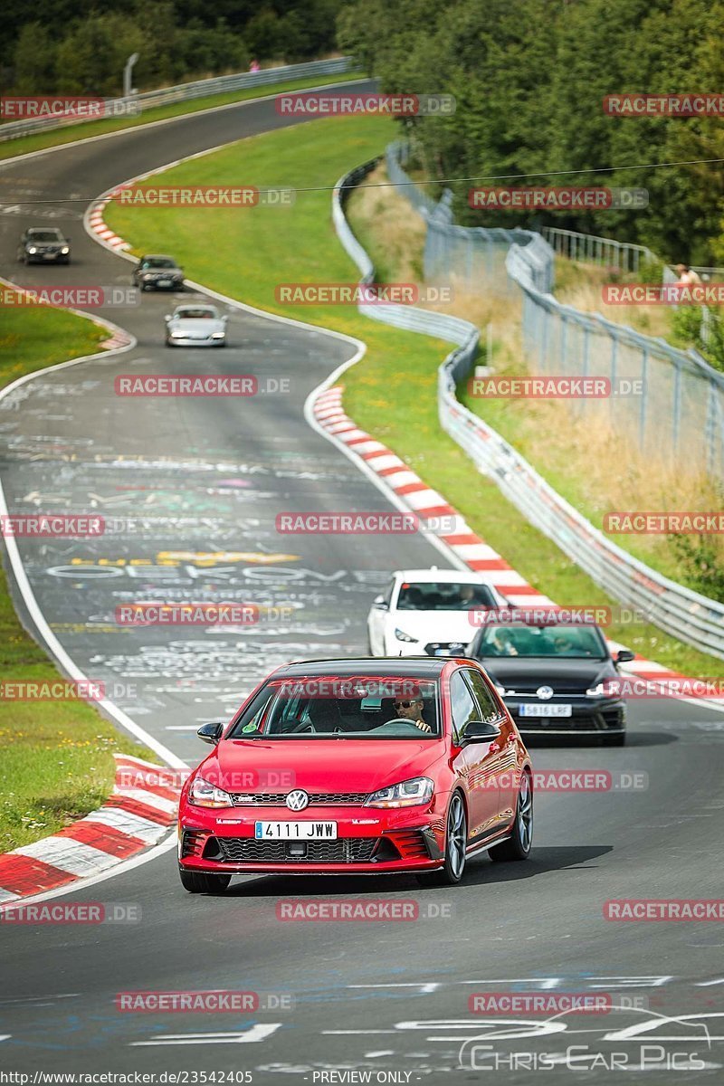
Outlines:
<svg viewBox="0 0 724 1086"><path fill-rule="evenodd" d="M66 128L38 132L34 136L21 136L18 139L7 140L0 143L0 160L14 159L18 154L28 154L30 151L45 151L50 147L62 147L64 143L73 143L79 139L90 139L92 136L102 136L105 132L138 128L140 125L148 125L153 121L165 121L167 117L179 117L187 113L199 113L201 110L209 110L217 105L230 105L233 102L245 102L251 98L264 98L267 94L281 94L289 90L301 90L304 87L326 87L331 84L343 83L345 79L359 77L360 73L345 72L342 75L318 76L314 79L312 77L307 77L306 79L290 79L287 83L270 84L265 87L250 87L246 90L228 90L223 94L209 94L208 98L199 98L190 102L174 102L172 105L157 105L152 110L144 110L138 117L88 121L78 125L69 125ZM1 125L0 132L2 132Z"/></svg>

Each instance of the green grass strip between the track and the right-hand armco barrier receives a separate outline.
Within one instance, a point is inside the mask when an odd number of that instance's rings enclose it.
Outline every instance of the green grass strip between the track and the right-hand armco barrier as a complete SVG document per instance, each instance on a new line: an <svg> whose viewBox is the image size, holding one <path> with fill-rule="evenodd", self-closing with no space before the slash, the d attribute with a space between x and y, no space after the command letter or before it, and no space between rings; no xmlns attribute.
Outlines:
<svg viewBox="0 0 724 1086"><path fill-rule="evenodd" d="M350 281L356 269L333 230L329 187L352 166L379 154L390 121L318 121L242 140L166 172L169 184L326 187L300 192L285 210L131 209L111 205L106 219L136 252L170 251L189 278L252 305L363 339L364 359L343 379L345 408L439 490L470 526L551 598L563 605L615 606L480 476L440 428L436 370L449 345L386 328L352 307L291 306L275 299L290 281ZM200 239L203 238L203 244ZM648 624L611 627L631 648L689 674L724 674L724 662L697 653Z"/></svg>

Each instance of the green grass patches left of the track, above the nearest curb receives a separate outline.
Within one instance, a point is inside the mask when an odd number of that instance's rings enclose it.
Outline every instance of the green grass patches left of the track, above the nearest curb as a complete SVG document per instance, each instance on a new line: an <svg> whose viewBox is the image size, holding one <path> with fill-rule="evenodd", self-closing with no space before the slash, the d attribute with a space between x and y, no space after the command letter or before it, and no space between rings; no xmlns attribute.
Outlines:
<svg viewBox="0 0 724 1086"><path fill-rule="evenodd" d="M98 351L109 332L63 310L3 310L0 387ZM3 682L52 682L59 672L21 626L0 570ZM156 761L85 702L0 699L0 851L27 845L99 807L114 780L113 752Z"/></svg>

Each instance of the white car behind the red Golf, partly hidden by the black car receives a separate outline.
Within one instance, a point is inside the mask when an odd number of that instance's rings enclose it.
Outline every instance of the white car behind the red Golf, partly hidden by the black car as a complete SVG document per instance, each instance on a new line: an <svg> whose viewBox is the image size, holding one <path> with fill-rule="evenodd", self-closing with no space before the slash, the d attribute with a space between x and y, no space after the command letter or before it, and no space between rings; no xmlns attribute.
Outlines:
<svg viewBox="0 0 724 1086"><path fill-rule="evenodd" d="M455 656L475 633L472 610L507 606L479 573L398 569L367 617L371 656Z"/></svg>

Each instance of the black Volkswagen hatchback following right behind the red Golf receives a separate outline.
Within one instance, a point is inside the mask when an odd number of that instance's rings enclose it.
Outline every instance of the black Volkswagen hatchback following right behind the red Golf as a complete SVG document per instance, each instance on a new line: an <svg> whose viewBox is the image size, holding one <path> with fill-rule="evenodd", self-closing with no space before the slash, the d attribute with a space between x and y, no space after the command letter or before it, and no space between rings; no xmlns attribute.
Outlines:
<svg viewBox="0 0 724 1086"><path fill-rule="evenodd" d="M593 735L626 742L626 707L617 689L619 664L599 627L485 626L468 647L495 682L523 735Z"/></svg>

